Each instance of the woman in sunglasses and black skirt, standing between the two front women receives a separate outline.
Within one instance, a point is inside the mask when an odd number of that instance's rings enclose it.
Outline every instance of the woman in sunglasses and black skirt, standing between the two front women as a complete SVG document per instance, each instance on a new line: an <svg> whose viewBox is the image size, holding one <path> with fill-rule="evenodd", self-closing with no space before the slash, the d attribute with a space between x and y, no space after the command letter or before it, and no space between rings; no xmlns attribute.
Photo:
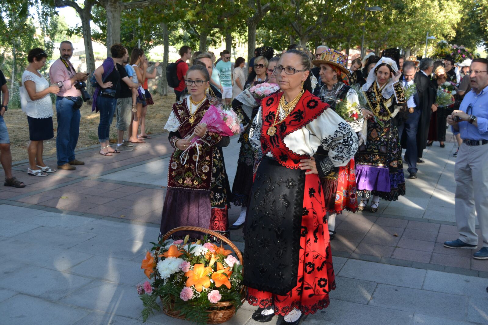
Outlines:
<svg viewBox="0 0 488 325"><path fill-rule="evenodd" d="M251 94L249 89L252 86L267 82L266 69L268 60L265 57L256 57L254 59L254 71L256 76L253 80L246 82L244 91L234 98L232 101L232 108L234 111L242 112L240 116L243 125L247 125L244 132L239 137L241 149L239 151L239 158L237 160L237 170L234 177L234 184L232 185L231 202L235 206L241 207L239 218L230 226L231 230L240 229L244 226L245 214L247 210L247 203L249 195L251 194L253 166L254 166L254 149L249 143L249 129L251 127L250 121L256 116L259 108L259 100Z"/></svg>

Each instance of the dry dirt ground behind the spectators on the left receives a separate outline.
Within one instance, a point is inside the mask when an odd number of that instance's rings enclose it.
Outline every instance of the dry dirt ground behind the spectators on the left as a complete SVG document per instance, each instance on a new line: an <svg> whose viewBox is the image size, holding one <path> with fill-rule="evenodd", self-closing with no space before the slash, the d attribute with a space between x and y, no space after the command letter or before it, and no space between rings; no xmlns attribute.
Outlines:
<svg viewBox="0 0 488 325"><path fill-rule="evenodd" d="M171 106L175 102L174 94L169 96L153 95L154 105L148 105L146 115L146 133L160 134L166 132L163 129L171 111ZM80 137L77 149L98 144L98 123L100 115L91 112L91 105L83 104L81 107ZM56 106L53 105L53 125L54 138L44 141L44 156L56 155L56 129L58 121L56 119ZM29 142L29 125L27 115L22 110L8 110L3 116L7 124L10 136L10 146L12 151L12 163L27 159L27 144ZM117 129L115 117L110 126L110 141L117 141ZM1 166L0 166L1 168Z"/></svg>

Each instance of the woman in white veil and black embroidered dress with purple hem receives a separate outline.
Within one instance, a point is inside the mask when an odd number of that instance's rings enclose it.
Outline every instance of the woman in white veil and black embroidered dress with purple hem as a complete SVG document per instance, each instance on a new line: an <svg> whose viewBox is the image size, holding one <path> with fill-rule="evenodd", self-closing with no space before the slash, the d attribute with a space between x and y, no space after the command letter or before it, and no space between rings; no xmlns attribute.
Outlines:
<svg viewBox="0 0 488 325"><path fill-rule="evenodd" d="M369 211L376 212L380 197L396 201L405 195L402 148L393 117L406 106L400 82L400 71L394 60L382 57L369 71L363 94L368 107L363 110L367 120L366 143L356 154L356 185L361 195L359 210L366 208L372 195Z"/></svg>

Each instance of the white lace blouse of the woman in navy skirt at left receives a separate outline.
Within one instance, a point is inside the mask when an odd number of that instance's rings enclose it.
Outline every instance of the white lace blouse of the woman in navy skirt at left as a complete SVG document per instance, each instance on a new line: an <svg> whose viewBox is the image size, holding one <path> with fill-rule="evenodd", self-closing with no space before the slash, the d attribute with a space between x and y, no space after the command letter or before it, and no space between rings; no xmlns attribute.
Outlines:
<svg viewBox="0 0 488 325"><path fill-rule="evenodd" d="M22 74L22 85L25 87L25 81L31 80L36 84L36 93L49 88L49 82L41 75L38 76L35 73L25 70ZM27 99L26 113L27 116L34 118L48 118L53 116L53 102L51 101L50 94L39 98L37 100L32 100L25 90Z"/></svg>

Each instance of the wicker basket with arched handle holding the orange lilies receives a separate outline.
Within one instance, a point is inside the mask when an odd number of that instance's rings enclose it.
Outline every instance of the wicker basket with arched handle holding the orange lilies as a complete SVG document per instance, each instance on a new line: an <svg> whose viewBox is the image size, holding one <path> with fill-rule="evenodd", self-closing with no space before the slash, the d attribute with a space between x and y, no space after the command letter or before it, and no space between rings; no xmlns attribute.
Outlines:
<svg viewBox="0 0 488 325"><path fill-rule="evenodd" d="M217 237L220 240L224 241L230 248L236 253L237 258L243 264L243 255L241 251L226 237L222 236L221 234L200 227L178 227L175 229L171 229L168 231L164 236L163 240L166 240L171 236L173 233L177 231L198 231L209 234L211 236ZM245 287L243 286L241 290L242 302L245 300ZM208 309L208 316L207 316L207 324L221 324L230 320L234 314L236 313L236 307L232 305L230 302L218 302L216 304L212 304L213 306ZM174 299L171 299L171 302L167 305L163 304L163 312L171 317L178 318L178 319L187 319L185 315L180 315L180 312L174 309Z"/></svg>

